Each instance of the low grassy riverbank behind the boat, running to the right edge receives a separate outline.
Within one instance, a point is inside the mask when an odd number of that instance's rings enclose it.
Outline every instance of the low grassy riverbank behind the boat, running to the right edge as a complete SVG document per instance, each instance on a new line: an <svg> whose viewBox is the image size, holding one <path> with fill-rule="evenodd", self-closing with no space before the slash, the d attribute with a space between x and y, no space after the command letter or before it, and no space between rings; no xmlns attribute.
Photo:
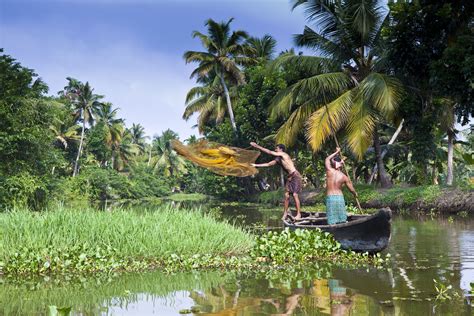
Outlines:
<svg viewBox="0 0 474 316"><path fill-rule="evenodd" d="M363 208L378 209L390 207L399 212L437 212L444 214L474 214L474 190L430 186L394 186L380 189L374 186L356 185L359 201ZM348 204L355 205L353 196L345 191ZM257 198L259 202L280 204L283 192L264 192ZM303 205L323 204L325 191L306 190L300 195Z"/></svg>

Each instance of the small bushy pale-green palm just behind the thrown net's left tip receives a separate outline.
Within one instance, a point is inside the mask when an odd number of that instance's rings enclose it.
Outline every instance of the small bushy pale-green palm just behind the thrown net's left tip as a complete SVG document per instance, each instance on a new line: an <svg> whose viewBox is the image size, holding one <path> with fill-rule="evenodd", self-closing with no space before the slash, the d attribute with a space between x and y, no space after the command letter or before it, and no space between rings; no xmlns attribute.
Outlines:
<svg viewBox="0 0 474 316"><path fill-rule="evenodd" d="M166 177L173 177L186 172L186 161L171 146L171 141L177 138L178 134L168 129L152 142L153 151L156 154L154 170L163 171Z"/></svg>

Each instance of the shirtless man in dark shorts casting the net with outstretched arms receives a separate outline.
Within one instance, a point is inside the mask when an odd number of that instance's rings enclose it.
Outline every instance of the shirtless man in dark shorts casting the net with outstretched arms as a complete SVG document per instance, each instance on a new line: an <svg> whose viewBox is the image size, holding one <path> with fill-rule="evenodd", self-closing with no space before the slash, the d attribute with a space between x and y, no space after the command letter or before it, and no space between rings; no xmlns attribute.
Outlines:
<svg viewBox="0 0 474 316"><path fill-rule="evenodd" d="M286 180L286 185L285 185L285 204L284 204L284 211L283 211L283 217L282 219L284 220L288 216L288 207L290 206L290 194L293 195L293 199L295 200L296 204L296 220L301 219L301 210L300 210L300 199L298 197L298 193L301 192L303 185L301 182L301 174L296 170L295 164L293 163L293 160L291 160L291 157L285 152L286 148L285 145L278 144L275 147L275 150L269 150L266 148L263 148L262 146L257 145L254 142L251 142L250 145L252 147L257 148L258 150L263 151L266 154L275 156L275 159L267 162L267 163L261 163L261 164L252 164L254 167L270 167L274 166L276 164L280 165L283 167L283 170L286 171L288 174L287 180Z"/></svg>

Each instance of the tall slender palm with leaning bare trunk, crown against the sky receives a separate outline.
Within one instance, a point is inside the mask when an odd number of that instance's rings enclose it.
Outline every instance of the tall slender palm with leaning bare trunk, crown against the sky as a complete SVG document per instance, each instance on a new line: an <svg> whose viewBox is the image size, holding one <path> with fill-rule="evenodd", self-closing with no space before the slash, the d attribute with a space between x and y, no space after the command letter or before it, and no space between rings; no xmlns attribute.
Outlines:
<svg viewBox="0 0 474 316"><path fill-rule="evenodd" d="M191 78L196 77L198 82L217 76L226 97L232 129L237 133L228 84L243 84L245 78L239 66L251 64L254 60L246 55L249 51L249 48L244 45L245 39L248 38L247 33L237 30L231 34L232 20L221 23L212 19L207 20L205 25L208 35L198 31L193 32L193 37L201 40L205 51L187 51L184 53L184 59L186 63L198 63L198 67L191 73Z"/></svg>

